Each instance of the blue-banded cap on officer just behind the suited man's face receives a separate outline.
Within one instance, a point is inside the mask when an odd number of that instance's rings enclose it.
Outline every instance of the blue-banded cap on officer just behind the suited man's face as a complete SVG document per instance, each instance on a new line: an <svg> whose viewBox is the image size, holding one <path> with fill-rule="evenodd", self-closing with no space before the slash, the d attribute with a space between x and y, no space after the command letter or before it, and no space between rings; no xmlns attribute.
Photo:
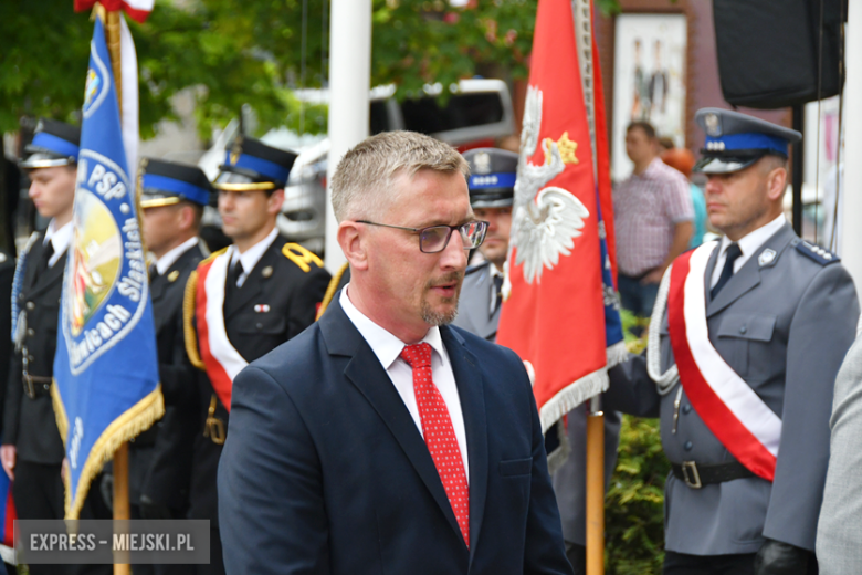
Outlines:
<svg viewBox="0 0 862 575"><path fill-rule="evenodd" d="M512 206L518 155L496 148L476 148L464 153L470 165L470 203L474 208L506 208Z"/></svg>

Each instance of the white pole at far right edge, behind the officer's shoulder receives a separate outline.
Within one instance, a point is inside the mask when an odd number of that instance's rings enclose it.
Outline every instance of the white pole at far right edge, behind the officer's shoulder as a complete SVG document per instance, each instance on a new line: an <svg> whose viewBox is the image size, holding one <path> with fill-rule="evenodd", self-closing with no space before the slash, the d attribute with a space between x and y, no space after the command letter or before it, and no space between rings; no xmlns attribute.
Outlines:
<svg viewBox="0 0 862 575"><path fill-rule="evenodd" d="M841 226L841 259L850 272L856 291L862 293L862 226L854 226L855 217L862 213L862 108L855 105L862 98L862 3L848 2L847 82L844 83L844 181L840 194L843 196L841 211L844 224Z"/></svg>

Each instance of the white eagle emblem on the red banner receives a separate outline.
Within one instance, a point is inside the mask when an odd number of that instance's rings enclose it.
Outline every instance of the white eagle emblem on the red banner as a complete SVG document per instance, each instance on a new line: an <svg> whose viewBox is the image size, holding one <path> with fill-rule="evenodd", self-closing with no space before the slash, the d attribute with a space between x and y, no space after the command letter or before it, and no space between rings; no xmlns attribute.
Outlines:
<svg viewBox="0 0 862 575"><path fill-rule="evenodd" d="M512 234L512 248L517 248L515 264L524 264L527 283L533 283L534 279L539 282L545 268L553 269L560 255L571 253L575 238L581 234L584 218L590 215L584 203L568 190L550 186L539 191L566 169L559 146L550 138L542 143L545 163L539 166L529 163L528 158L538 146L540 127L542 91L529 86L521 133ZM504 296L508 295L509 289L507 274Z"/></svg>

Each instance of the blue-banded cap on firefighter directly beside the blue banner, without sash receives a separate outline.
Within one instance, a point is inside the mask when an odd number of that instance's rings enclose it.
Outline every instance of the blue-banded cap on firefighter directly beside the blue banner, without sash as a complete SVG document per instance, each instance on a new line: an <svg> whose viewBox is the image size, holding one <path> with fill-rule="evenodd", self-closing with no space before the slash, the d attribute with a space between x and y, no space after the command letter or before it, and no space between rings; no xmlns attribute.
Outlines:
<svg viewBox="0 0 862 575"><path fill-rule="evenodd" d="M199 206L210 202L212 185L197 166L141 158L138 175L141 208L170 206L181 200Z"/></svg>

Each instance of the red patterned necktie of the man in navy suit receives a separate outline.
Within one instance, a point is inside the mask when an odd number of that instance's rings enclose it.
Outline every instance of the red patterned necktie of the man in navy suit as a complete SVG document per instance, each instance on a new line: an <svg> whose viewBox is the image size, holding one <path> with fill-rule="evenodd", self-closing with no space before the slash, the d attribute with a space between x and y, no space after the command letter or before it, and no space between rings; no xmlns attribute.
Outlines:
<svg viewBox="0 0 862 575"><path fill-rule="evenodd" d="M446 402L431 377L431 346L427 343L408 345L401 352L401 359L413 368L413 390L425 445L469 548L470 491L464 460L461 459L461 449L458 447Z"/></svg>

